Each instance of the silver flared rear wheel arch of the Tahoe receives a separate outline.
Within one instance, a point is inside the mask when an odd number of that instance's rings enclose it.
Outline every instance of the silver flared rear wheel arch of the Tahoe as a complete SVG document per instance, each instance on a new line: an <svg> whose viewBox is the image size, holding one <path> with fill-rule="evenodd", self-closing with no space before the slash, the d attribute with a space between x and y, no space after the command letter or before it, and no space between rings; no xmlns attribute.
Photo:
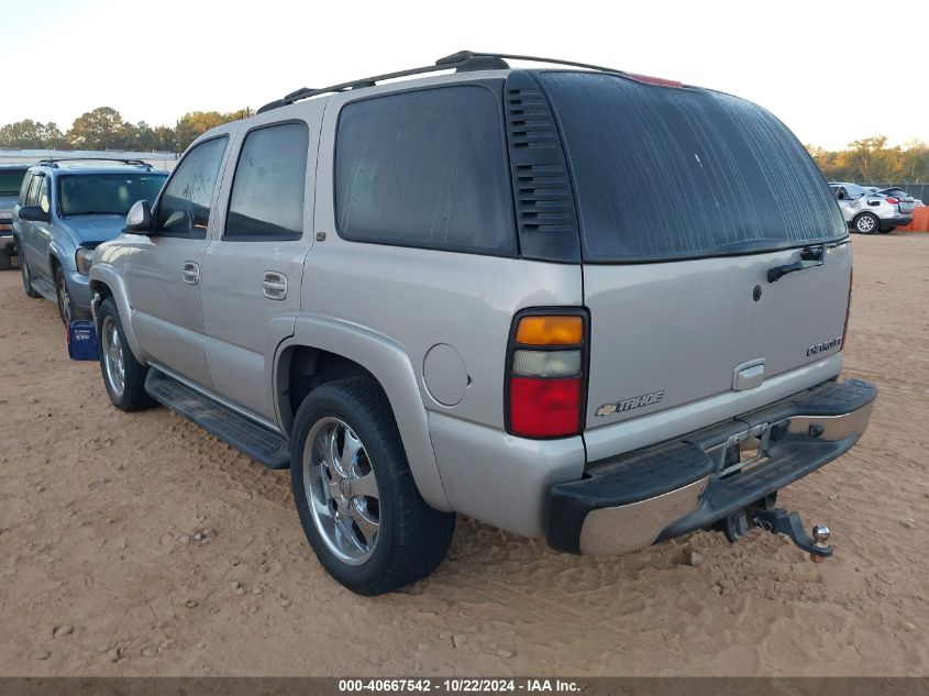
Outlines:
<svg viewBox="0 0 929 696"><path fill-rule="evenodd" d="M402 346L388 336L338 319L296 316L290 321L292 331L278 343L268 366L281 429L290 432L299 402L312 387L346 376L369 375L384 389L394 411L420 495L433 508L451 512L417 373Z"/></svg>

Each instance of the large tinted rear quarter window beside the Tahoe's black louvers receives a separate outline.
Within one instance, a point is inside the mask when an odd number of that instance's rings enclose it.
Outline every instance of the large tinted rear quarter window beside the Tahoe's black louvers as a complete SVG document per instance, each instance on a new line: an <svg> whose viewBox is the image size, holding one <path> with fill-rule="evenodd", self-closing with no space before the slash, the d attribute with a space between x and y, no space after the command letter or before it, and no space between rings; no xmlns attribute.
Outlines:
<svg viewBox="0 0 929 696"><path fill-rule="evenodd" d="M488 89L442 87L345 106L335 214L362 242L515 255L501 108Z"/></svg>

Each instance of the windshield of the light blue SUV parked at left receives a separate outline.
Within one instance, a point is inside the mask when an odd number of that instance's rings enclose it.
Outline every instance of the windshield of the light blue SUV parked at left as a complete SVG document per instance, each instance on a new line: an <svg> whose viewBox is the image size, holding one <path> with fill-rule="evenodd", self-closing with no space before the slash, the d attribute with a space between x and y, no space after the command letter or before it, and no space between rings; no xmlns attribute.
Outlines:
<svg viewBox="0 0 929 696"><path fill-rule="evenodd" d="M166 174L81 174L58 178L62 216L124 216L137 200L154 201Z"/></svg>

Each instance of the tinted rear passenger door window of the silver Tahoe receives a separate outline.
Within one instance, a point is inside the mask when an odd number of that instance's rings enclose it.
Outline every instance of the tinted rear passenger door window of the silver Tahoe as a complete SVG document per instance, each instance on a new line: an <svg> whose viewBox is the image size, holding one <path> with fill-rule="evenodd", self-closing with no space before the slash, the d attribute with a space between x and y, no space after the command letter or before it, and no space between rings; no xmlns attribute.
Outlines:
<svg viewBox="0 0 929 696"><path fill-rule="evenodd" d="M235 165L223 239L302 236L309 140L305 123L272 125L245 136Z"/></svg>

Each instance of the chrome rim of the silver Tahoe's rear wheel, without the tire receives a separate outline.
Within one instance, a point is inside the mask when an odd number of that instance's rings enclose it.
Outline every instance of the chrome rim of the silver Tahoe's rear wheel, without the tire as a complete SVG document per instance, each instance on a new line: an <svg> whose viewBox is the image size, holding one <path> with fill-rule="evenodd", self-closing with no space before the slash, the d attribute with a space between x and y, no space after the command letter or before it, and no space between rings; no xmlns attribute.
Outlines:
<svg viewBox="0 0 929 696"><path fill-rule="evenodd" d="M364 444L347 423L322 418L307 435L302 467L317 531L340 561L361 565L380 533L380 496Z"/></svg>

